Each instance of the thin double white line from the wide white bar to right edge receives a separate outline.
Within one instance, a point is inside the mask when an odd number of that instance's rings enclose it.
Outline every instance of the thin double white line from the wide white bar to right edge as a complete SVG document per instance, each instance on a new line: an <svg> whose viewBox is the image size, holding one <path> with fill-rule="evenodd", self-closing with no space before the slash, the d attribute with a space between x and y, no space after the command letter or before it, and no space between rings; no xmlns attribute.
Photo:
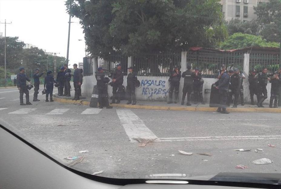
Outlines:
<svg viewBox="0 0 281 189"><path fill-rule="evenodd" d="M218 136L218 137L172 137L159 138L158 141L194 141L194 140L255 140L255 139L281 139L281 135L261 136Z"/></svg>

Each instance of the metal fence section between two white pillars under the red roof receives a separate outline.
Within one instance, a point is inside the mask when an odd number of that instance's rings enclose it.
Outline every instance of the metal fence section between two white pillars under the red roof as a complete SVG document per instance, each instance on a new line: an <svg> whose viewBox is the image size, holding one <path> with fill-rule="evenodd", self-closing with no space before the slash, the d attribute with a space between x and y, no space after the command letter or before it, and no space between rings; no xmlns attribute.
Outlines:
<svg viewBox="0 0 281 189"><path fill-rule="evenodd" d="M217 78L223 64L227 70L235 67L243 71L243 52L188 51L187 64L200 69L205 78Z"/></svg>

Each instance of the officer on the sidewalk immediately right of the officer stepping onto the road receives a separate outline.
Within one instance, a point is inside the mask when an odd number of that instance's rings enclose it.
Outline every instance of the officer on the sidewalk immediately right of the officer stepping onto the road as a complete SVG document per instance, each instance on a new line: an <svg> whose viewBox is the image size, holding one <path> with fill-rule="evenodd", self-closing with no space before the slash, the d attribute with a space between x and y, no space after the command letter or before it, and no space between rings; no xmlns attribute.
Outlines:
<svg viewBox="0 0 281 189"><path fill-rule="evenodd" d="M233 69L233 75L230 77L230 90L228 95L228 104L231 104L232 97L234 95L233 108L237 108L238 98L240 94L242 78L237 68Z"/></svg>

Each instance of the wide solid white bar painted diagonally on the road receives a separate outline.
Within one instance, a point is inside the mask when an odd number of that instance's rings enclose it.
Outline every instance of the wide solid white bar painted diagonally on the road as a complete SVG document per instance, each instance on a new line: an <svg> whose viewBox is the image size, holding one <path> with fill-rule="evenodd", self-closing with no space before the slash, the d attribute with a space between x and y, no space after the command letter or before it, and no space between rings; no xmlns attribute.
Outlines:
<svg viewBox="0 0 281 189"><path fill-rule="evenodd" d="M136 142L135 140L132 140L132 138L137 137L146 139L157 138L157 136L154 135L154 133L145 126L144 122L131 110L116 110L116 112L131 142Z"/></svg>

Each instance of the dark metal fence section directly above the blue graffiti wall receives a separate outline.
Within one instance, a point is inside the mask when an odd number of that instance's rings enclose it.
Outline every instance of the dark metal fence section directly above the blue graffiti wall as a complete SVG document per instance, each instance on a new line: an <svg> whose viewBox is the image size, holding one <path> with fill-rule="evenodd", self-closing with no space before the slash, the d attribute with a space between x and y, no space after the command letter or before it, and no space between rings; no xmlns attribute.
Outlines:
<svg viewBox="0 0 281 189"><path fill-rule="evenodd" d="M132 66L139 76L169 76L175 65L180 66L181 53L144 54L134 56Z"/></svg>

